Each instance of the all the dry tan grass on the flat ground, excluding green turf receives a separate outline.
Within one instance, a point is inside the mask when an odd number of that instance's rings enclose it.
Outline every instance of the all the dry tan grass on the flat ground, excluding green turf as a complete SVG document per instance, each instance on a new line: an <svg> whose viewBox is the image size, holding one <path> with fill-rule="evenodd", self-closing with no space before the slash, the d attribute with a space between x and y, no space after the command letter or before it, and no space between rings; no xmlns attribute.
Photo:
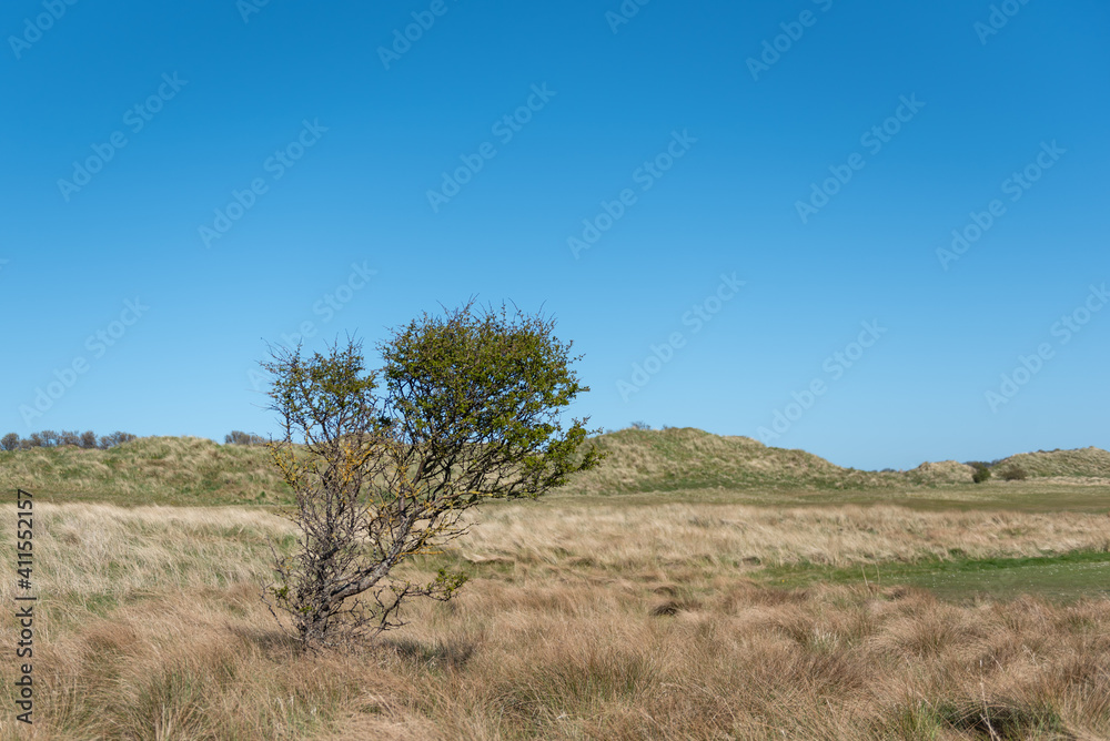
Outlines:
<svg viewBox="0 0 1110 741"><path fill-rule="evenodd" d="M36 512L37 723L16 728L6 697L2 739L1110 734L1106 599L785 590L754 583L761 567L744 560L1093 548L1106 515L492 507L456 556L482 565L458 599L414 606L410 627L361 652L297 657L254 586L265 537L289 531L272 515ZM12 519L0 511L2 531ZM10 541L0 554L11 562Z"/></svg>

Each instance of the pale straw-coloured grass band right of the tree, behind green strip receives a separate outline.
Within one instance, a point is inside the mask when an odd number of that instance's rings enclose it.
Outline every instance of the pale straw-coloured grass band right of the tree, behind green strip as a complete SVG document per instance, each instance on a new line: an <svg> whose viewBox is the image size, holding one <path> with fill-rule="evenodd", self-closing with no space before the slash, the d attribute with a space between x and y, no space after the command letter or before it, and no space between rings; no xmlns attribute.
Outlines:
<svg viewBox="0 0 1110 741"><path fill-rule="evenodd" d="M1074 512L914 511L902 507L767 508L622 504L492 508L461 544L465 558L589 564L623 571L699 564L734 569L806 560L858 562L1110 550L1110 517Z"/></svg>

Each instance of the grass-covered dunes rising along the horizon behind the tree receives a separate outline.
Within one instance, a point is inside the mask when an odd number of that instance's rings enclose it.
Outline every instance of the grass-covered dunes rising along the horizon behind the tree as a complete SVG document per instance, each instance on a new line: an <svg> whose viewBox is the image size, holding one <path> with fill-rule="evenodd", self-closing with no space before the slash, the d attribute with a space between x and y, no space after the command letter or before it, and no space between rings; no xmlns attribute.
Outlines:
<svg viewBox="0 0 1110 741"><path fill-rule="evenodd" d="M864 471L804 450L690 427L624 429L587 444L609 457L573 479L564 489L567 494L877 490L955 487L972 480L972 468L955 461L926 463L908 471ZM1020 454L997 463L995 478L1013 468L1033 479L1063 477L1106 485L1110 453L1084 448ZM198 437L139 438L108 450L62 446L0 453L0 488L17 487L47 499L120 504L278 504L287 496L264 447L219 445Z"/></svg>

